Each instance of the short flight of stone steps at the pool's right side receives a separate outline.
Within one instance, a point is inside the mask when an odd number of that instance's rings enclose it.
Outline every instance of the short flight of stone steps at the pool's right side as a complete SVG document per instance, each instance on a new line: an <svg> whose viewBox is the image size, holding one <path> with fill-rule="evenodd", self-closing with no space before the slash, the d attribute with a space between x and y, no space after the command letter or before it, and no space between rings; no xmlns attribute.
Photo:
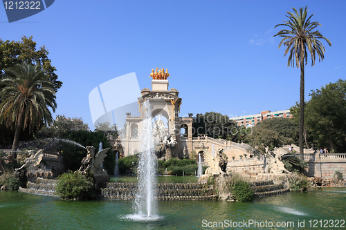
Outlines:
<svg viewBox="0 0 346 230"><path fill-rule="evenodd" d="M284 188L283 184L274 184L273 180L265 180L260 182L251 182L251 189L255 197L263 197L268 195L276 195L286 193L289 189Z"/></svg>

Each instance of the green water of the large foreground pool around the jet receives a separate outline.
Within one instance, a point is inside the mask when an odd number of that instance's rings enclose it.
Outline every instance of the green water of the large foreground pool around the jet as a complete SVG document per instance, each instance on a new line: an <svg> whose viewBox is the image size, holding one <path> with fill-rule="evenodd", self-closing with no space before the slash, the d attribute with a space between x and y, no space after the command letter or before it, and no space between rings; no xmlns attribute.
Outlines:
<svg viewBox="0 0 346 230"><path fill-rule="evenodd" d="M309 193L284 193L253 202L174 201L158 202L161 218L133 221L131 202L100 200L73 202L18 191L0 191L0 229L278 229L228 227L233 222L293 222L281 229L346 229L320 227L319 220L346 220L346 189L316 189ZM298 227L304 221L305 227ZM318 222L315 228L309 228ZM211 227L207 227L209 226ZM324 224L322 222L322 224ZM340 226L340 224L339 224Z"/></svg>

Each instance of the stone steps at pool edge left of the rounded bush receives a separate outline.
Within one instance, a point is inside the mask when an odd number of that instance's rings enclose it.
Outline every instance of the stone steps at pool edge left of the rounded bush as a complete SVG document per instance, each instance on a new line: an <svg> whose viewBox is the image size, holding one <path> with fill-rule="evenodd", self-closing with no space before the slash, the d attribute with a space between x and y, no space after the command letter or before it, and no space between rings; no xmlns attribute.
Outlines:
<svg viewBox="0 0 346 230"><path fill-rule="evenodd" d="M39 195L55 195L55 186L57 184L57 180L53 179L43 179L43 178L37 178L37 182L28 182L26 184L26 188L19 188L19 191L25 192L25 193L33 193L33 194L39 194Z"/></svg>

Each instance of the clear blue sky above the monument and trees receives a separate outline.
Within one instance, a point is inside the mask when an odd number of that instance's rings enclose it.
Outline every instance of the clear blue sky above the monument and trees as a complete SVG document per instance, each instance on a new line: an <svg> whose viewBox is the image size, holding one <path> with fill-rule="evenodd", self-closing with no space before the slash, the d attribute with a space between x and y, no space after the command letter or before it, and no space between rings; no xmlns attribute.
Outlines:
<svg viewBox="0 0 346 230"><path fill-rule="evenodd" d="M37 15L8 23L0 6L0 39L33 35L63 82L55 115L82 117L93 129L89 93L135 72L151 88L152 68L168 68L183 98L181 115L215 111L229 117L280 111L299 99L300 70L278 49L292 8L308 6L333 46L305 69L305 94L346 79L346 1L76 1L56 0Z"/></svg>

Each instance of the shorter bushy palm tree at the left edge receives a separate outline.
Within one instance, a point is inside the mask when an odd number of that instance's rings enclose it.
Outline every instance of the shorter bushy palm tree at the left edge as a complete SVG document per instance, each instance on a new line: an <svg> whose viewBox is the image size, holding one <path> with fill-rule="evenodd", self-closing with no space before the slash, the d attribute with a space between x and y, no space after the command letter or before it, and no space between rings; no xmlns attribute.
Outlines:
<svg viewBox="0 0 346 230"><path fill-rule="evenodd" d="M17 147L21 129L40 128L52 121L52 114L57 106L54 84L45 80L45 73L32 64L15 64L7 68L11 77L1 79L3 88L0 91L0 120L9 128L15 128L12 154Z"/></svg>

